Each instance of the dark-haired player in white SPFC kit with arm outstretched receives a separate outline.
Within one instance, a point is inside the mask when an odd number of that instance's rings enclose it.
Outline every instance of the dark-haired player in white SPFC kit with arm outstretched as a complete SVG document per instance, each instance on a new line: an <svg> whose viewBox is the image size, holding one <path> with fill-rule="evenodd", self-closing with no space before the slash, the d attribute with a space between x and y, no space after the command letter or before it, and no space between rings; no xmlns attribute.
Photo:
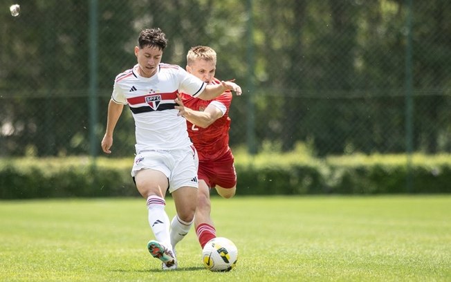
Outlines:
<svg viewBox="0 0 451 282"><path fill-rule="evenodd" d="M140 32L134 50L138 64L120 73L114 82L102 150L111 153L114 128L128 104L136 126L136 158L131 176L139 193L147 199L149 225L155 236L147 249L163 262L163 270L173 270L177 261L171 241L181 241L190 230L199 185L197 152L188 137L185 119L174 109L175 99L183 92L212 100L226 90L241 95L241 88L234 82L207 85L180 66L161 63L166 44L165 33L159 28ZM168 188L176 206L176 216L171 221L165 212Z"/></svg>

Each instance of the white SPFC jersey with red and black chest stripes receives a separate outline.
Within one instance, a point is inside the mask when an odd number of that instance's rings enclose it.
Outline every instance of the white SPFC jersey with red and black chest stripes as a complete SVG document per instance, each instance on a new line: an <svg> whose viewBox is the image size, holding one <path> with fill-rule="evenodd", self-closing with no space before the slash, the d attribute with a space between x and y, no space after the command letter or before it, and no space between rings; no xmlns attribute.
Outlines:
<svg viewBox="0 0 451 282"><path fill-rule="evenodd" d="M136 153L189 147L185 118L174 109L177 93L196 97L205 82L176 65L160 64L152 77L138 75L138 65L120 73L114 82L114 102L128 104L136 126Z"/></svg>

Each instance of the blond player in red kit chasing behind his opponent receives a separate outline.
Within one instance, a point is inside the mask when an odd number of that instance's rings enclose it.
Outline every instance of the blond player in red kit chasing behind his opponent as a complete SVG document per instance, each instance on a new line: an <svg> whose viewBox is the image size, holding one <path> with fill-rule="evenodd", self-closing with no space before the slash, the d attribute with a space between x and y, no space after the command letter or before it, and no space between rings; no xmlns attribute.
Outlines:
<svg viewBox="0 0 451 282"><path fill-rule="evenodd" d="M214 78L216 61L217 55L212 48L196 46L187 53L186 70L207 84L220 84L221 81ZM181 93L176 102L178 115L187 120L188 133L199 154L199 193L194 227L203 248L216 237L210 216L210 189L214 187L223 198L231 198L237 187L234 158L228 144L232 93L225 91L213 100L201 100Z"/></svg>

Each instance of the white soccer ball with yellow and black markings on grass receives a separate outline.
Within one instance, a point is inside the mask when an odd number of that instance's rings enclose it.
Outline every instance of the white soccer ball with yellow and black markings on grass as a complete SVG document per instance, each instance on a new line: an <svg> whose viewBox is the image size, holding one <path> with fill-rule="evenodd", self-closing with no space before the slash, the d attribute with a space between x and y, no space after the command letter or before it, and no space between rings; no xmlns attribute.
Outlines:
<svg viewBox="0 0 451 282"><path fill-rule="evenodd" d="M237 246L228 238L212 238L202 250L203 265L211 271L226 272L237 264Z"/></svg>

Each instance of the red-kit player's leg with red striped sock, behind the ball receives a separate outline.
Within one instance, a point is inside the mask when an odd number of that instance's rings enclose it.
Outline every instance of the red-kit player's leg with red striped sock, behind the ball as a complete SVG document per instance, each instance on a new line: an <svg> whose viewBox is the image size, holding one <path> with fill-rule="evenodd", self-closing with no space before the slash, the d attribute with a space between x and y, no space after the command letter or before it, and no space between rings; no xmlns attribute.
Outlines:
<svg viewBox="0 0 451 282"><path fill-rule="evenodd" d="M201 177L201 176L199 176ZM199 193L197 194L197 209L194 217L194 228L199 243L203 248L208 241L216 238L216 229L210 216L212 210L210 203L210 187L205 180L199 180Z"/></svg>

